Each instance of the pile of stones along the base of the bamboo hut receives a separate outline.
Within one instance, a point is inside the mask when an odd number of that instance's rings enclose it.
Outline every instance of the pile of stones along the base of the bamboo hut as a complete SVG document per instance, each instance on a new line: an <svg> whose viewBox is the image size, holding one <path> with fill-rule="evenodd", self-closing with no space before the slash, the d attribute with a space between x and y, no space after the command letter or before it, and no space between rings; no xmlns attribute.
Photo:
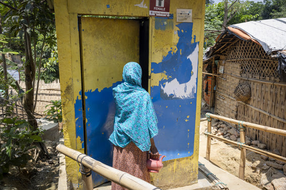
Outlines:
<svg viewBox="0 0 286 190"><path fill-rule="evenodd" d="M217 119L212 119L211 123L211 134L221 136L232 141L240 142L240 132L234 127L227 125ZM265 144L260 143L258 140L251 140L247 136L245 144L260 149L266 149ZM277 149L274 149L272 153L281 155ZM262 186L266 189L286 189L286 163L264 155L261 155L261 158L265 160L265 163L261 168Z"/></svg>

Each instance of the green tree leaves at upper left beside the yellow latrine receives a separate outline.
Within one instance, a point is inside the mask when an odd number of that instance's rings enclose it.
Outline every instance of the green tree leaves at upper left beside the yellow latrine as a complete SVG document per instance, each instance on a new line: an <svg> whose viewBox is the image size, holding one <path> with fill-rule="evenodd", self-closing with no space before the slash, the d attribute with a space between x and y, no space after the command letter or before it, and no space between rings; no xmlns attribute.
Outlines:
<svg viewBox="0 0 286 190"><path fill-rule="evenodd" d="M43 71L44 73L40 78L46 83L59 79L58 56L52 55L52 51L56 51L54 14L49 11L47 2L40 0L16 0L13 3L6 3L18 9L18 11L9 11L10 9L0 5L0 8L4 8L1 14L4 15L2 18L2 21L4 21L2 22L3 32L10 37L18 37L18 41L8 41L9 47L11 49L17 48L22 53L25 52L24 33L27 31L31 37L31 52L34 62L37 67L40 65L43 68L41 72ZM49 58L56 59L56 64L50 64ZM45 66L49 64L50 66ZM24 70L21 70L20 74L21 80L25 80ZM37 77L37 74L35 77Z"/></svg>

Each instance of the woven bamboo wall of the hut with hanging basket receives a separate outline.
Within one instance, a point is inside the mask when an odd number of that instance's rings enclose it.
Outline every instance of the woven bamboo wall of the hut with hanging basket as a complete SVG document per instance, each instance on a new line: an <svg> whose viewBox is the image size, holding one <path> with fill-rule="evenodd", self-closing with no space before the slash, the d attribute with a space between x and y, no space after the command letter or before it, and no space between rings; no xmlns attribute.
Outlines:
<svg viewBox="0 0 286 190"><path fill-rule="evenodd" d="M267 55L258 44L243 40L228 47L226 55L226 57L221 57L221 64L224 60L222 77L225 80L218 79L217 81L216 114L286 130L284 122L263 113L264 111L282 120L286 119L286 87L263 83L263 81L279 81L276 73L278 61ZM258 79L262 82L247 81L227 75L227 73ZM247 82L251 88L251 98L246 103L261 111L254 110L233 99L235 87L242 82ZM246 135L266 144L267 149L276 148L282 156L286 156L286 146L283 144L286 142L285 137L255 129L247 129Z"/></svg>

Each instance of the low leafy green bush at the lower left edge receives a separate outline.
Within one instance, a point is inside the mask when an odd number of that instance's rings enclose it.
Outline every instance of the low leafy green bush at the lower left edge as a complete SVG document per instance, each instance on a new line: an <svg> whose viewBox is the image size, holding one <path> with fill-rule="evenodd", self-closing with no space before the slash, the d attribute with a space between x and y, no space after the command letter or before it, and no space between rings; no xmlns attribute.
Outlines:
<svg viewBox="0 0 286 190"><path fill-rule="evenodd" d="M42 142L40 131L31 131L29 123L17 117L0 120L0 178L10 166L24 167L31 156L34 142Z"/></svg>

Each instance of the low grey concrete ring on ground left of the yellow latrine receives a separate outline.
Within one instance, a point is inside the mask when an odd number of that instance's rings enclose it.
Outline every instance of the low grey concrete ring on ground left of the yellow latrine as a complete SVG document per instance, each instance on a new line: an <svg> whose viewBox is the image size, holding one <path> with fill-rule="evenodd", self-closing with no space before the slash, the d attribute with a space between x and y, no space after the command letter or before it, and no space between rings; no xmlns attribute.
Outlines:
<svg viewBox="0 0 286 190"><path fill-rule="evenodd" d="M59 140L59 124L45 119L37 119L38 125L44 130L43 140L58 141Z"/></svg>

